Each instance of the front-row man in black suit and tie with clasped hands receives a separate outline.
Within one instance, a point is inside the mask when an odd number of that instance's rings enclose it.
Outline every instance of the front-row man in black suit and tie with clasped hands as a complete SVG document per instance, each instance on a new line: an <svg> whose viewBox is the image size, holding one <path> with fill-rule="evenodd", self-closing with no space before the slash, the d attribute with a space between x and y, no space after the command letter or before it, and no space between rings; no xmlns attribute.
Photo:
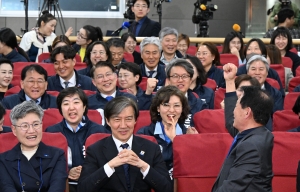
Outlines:
<svg viewBox="0 0 300 192"><path fill-rule="evenodd" d="M172 191L159 146L133 135L138 113L136 102L127 97L106 105L112 136L87 149L78 191Z"/></svg>

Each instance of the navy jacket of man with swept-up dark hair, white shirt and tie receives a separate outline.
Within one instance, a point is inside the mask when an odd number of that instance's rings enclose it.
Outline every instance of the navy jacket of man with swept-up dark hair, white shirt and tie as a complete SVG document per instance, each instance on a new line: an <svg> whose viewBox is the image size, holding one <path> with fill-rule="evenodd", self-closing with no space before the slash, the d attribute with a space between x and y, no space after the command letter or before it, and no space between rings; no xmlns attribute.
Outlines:
<svg viewBox="0 0 300 192"><path fill-rule="evenodd" d="M96 91L96 87L92 83L91 78L80 75L75 71L75 76L76 76L76 87L81 88L82 90L91 90L91 91ZM48 78L48 91L61 91L64 88L61 86L60 79L58 75L52 76Z"/></svg>

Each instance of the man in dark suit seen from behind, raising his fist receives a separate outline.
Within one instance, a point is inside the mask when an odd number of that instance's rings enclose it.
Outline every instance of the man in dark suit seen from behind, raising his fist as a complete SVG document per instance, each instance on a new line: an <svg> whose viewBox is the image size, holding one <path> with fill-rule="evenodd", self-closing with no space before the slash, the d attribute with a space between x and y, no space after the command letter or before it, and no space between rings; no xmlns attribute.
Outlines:
<svg viewBox="0 0 300 192"><path fill-rule="evenodd" d="M273 135L265 127L272 114L272 99L253 86L242 87L238 98L234 84L237 67L229 63L223 69L226 128L234 141L212 192L272 191Z"/></svg>

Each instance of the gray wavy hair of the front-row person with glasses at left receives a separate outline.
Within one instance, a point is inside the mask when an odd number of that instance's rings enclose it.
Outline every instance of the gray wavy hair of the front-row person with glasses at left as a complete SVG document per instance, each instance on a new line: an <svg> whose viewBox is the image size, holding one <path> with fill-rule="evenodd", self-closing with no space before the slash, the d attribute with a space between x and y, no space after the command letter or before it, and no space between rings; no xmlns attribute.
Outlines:
<svg viewBox="0 0 300 192"><path fill-rule="evenodd" d="M15 125L19 119L24 118L29 113L35 113L40 121L43 120L44 111L42 107L37 105L34 101L24 101L16 105L10 112L10 120L12 124Z"/></svg>

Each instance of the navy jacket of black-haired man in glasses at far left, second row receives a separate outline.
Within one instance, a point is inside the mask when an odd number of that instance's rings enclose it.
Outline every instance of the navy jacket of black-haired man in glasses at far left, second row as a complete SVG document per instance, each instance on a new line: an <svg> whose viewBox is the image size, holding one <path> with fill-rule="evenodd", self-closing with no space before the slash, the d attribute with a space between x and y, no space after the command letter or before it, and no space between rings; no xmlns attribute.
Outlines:
<svg viewBox="0 0 300 192"><path fill-rule="evenodd" d="M14 108L14 106L22 103L23 101L26 101L26 98L25 92L22 89L19 93L4 97L1 103L5 109L12 109ZM57 108L56 97L47 94L45 91L44 95L42 95L41 97L41 102L39 103L39 105L43 109Z"/></svg>

